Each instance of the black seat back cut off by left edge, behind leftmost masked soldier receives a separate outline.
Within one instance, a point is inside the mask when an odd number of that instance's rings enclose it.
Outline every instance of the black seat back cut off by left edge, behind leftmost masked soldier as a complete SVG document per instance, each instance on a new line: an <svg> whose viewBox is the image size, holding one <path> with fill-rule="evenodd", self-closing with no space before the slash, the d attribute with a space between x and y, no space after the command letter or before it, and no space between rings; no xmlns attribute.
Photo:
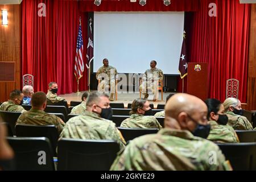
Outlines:
<svg viewBox="0 0 256 182"><path fill-rule="evenodd" d="M20 114L22 114L22 112L10 112L10 111L2 111L2 110L0 111L0 115L3 121L9 124L11 131L13 132L14 135L16 135L15 125Z"/></svg>

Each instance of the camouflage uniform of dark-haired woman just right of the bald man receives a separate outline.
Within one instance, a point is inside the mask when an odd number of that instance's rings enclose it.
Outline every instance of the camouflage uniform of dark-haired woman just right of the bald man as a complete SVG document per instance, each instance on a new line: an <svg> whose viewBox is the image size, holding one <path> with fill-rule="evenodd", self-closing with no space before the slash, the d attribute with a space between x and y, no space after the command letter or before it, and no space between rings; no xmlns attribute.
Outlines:
<svg viewBox="0 0 256 182"><path fill-rule="evenodd" d="M238 143L239 139L233 127L228 125L219 125L216 121L209 121L210 134L208 140L217 143Z"/></svg>

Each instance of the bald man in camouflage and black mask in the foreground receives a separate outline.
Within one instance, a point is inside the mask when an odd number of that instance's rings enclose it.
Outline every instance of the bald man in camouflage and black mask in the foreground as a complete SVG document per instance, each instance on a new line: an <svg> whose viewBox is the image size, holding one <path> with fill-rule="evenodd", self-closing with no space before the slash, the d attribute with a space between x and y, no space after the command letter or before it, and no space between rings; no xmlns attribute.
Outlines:
<svg viewBox="0 0 256 182"><path fill-rule="evenodd" d="M130 140L111 170L232 169L220 148L204 139L210 127L203 101L177 93L168 100L165 110L164 129Z"/></svg>

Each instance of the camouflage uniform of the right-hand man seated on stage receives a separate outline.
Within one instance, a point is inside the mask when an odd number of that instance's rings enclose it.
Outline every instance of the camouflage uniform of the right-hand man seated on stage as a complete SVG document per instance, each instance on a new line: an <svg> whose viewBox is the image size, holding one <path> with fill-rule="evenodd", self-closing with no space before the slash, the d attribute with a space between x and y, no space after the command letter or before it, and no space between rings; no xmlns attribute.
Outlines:
<svg viewBox="0 0 256 182"><path fill-rule="evenodd" d="M141 92L143 95L148 94L147 90L151 90L154 98L158 99L158 80L163 81L163 72L159 68L147 69L142 78Z"/></svg>

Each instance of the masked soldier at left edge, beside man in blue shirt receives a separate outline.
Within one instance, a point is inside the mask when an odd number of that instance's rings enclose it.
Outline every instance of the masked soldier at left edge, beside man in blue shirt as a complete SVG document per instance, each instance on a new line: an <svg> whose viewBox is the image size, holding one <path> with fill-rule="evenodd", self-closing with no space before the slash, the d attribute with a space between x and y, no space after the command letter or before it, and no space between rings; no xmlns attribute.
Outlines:
<svg viewBox="0 0 256 182"><path fill-rule="evenodd" d="M20 90L13 90L10 93L9 101L3 102L0 110L11 112L24 112L26 111L21 105L23 104L23 93Z"/></svg>

